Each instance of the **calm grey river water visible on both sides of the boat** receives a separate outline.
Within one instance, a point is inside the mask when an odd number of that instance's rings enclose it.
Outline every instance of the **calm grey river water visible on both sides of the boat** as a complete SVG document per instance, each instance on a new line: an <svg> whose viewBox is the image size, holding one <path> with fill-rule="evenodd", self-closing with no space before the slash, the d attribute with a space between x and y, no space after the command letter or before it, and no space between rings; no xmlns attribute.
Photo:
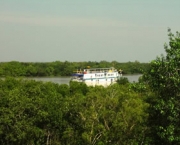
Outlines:
<svg viewBox="0 0 180 145"><path fill-rule="evenodd" d="M141 75L124 75L123 77L128 78L130 82L138 82L138 79L140 76ZM27 79L68 85L71 77L32 77L32 78L27 78Z"/></svg>

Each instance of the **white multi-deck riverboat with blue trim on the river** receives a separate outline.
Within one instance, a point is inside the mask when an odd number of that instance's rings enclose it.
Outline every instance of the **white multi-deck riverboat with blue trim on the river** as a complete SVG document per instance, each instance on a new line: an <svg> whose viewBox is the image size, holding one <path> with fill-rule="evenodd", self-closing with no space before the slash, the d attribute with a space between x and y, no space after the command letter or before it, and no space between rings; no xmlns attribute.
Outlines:
<svg viewBox="0 0 180 145"><path fill-rule="evenodd" d="M116 83L122 76L122 70L117 71L115 68L89 68L83 71L77 71L72 75L72 81L84 82L87 86L109 86Z"/></svg>

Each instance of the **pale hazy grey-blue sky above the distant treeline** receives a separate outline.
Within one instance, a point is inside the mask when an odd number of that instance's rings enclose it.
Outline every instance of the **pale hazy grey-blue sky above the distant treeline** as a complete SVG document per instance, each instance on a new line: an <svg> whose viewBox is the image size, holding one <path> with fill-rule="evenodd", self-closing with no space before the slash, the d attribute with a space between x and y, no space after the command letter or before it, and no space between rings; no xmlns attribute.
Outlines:
<svg viewBox="0 0 180 145"><path fill-rule="evenodd" d="M180 0L0 0L0 61L150 62Z"/></svg>

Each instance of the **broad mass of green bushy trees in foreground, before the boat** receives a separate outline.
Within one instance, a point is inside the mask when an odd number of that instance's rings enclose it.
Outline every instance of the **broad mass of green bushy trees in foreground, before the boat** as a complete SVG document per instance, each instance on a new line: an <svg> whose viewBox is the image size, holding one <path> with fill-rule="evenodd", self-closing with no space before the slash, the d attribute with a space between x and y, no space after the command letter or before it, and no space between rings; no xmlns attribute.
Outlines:
<svg viewBox="0 0 180 145"><path fill-rule="evenodd" d="M127 79L107 88L0 80L1 145L148 143L149 92Z"/></svg>

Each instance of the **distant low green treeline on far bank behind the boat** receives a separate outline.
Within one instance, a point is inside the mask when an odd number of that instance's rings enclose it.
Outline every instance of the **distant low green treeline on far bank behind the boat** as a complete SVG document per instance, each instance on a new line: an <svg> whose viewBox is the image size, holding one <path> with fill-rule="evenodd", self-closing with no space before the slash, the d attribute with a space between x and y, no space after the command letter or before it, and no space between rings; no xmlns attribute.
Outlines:
<svg viewBox="0 0 180 145"><path fill-rule="evenodd" d="M107 62L1 62L0 63L0 76L25 76L25 77L44 77L44 76L70 76L73 71L87 68L106 68L115 67L116 69L122 69L123 74L141 74L144 70L147 70L149 63L126 62L120 63L116 61Z"/></svg>

